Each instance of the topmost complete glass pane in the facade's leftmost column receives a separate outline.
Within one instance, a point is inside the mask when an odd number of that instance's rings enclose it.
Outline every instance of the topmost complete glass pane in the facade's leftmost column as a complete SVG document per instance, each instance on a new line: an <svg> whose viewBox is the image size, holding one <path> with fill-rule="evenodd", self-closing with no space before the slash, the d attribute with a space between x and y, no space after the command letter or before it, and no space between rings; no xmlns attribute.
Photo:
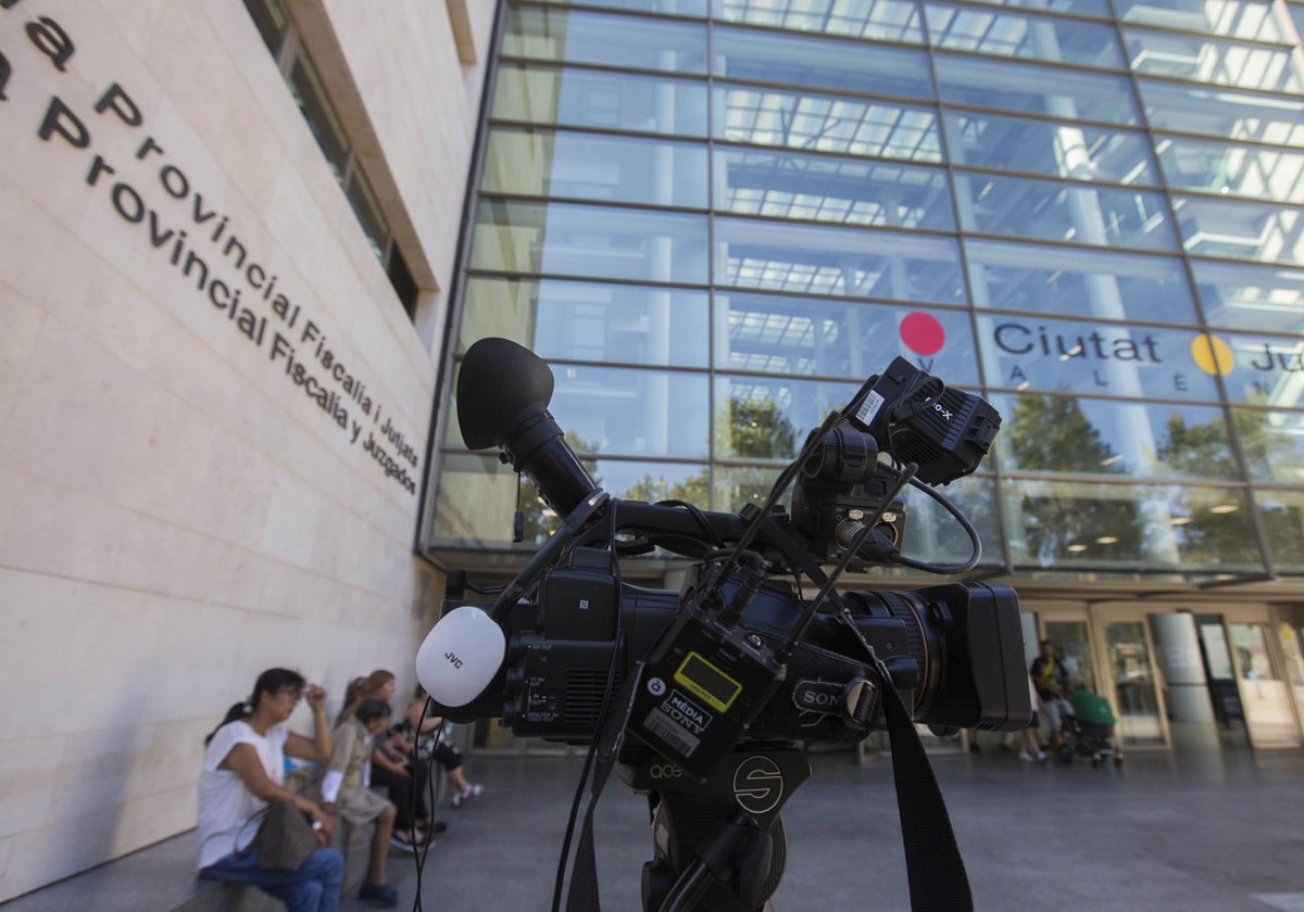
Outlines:
<svg viewBox="0 0 1304 912"><path fill-rule="evenodd" d="M638 40L630 40L638 34ZM502 36L507 57L705 73L707 31L692 22L632 18L569 9L507 12Z"/></svg>

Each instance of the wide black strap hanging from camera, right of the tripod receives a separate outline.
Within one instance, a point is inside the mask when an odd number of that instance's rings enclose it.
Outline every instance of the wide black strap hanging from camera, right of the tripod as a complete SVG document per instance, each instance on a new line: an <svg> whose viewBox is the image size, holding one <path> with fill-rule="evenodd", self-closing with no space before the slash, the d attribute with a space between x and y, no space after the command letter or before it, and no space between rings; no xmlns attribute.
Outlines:
<svg viewBox="0 0 1304 912"><path fill-rule="evenodd" d="M969 876L928 754L901 694L891 681L885 689L883 709L892 744L892 778L905 842L910 908L914 912L973 909Z"/></svg>

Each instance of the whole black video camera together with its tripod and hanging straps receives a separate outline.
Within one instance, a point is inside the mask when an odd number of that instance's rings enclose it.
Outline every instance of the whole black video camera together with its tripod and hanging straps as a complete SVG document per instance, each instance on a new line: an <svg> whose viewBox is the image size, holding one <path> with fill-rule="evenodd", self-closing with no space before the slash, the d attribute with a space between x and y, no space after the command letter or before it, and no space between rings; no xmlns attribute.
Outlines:
<svg viewBox="0 0 1304 912"><path fill-rule="evenodd" d="M1028 724L1018 601L981 581L905 591L835 582L872 565L977 565L973 525L927 485L973 472L1000 416L896 358L807 435L762 507L730 515L610 498L566 444L548 412L552 393L548 365L506 339L481 339L463 358L463 439L498 447L562 524L492 603L446 599L416 671L439 715L501 718L520 736L589 745L589 810L567 908L599 907L592 810L614 767L651 805L645 912L769 909L786 859L780 810L810 775L801 745L855 744L882 727L911 900L971 908L911 720L939 734ZM901 554L908 483L965 529L968 562ZM656 549L691 559L678 590L622 580L622 558ZM563 860L569 844L570 827ZM559 870L554 909L561 886Z"/></svg>

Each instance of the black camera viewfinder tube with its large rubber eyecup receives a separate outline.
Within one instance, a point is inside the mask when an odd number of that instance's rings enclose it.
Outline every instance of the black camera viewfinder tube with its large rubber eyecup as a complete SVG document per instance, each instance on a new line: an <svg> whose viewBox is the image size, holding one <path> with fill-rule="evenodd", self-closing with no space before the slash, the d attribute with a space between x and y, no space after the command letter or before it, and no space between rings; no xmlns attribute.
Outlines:
<svg viewBox="0 0 1304 912"><path fill-rule="evenodd" d="M471 449L499 447L498 459L523 472L559 516L597 485L548 410L553 371L510 339L477 340L458 374L458 426Z"/></svg>

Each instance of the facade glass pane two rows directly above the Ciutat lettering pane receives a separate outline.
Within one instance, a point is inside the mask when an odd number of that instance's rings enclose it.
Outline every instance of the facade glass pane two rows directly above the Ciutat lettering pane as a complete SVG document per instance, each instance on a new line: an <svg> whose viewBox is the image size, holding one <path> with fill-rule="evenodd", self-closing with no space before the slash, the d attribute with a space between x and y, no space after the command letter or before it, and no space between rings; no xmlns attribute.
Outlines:
<svg viewBox="0 0 1304 912"><path fill-rule="evenodd" d="M970 231L1142 250L1178 246L1161 193L957 172L956 197Z"/></svg>

